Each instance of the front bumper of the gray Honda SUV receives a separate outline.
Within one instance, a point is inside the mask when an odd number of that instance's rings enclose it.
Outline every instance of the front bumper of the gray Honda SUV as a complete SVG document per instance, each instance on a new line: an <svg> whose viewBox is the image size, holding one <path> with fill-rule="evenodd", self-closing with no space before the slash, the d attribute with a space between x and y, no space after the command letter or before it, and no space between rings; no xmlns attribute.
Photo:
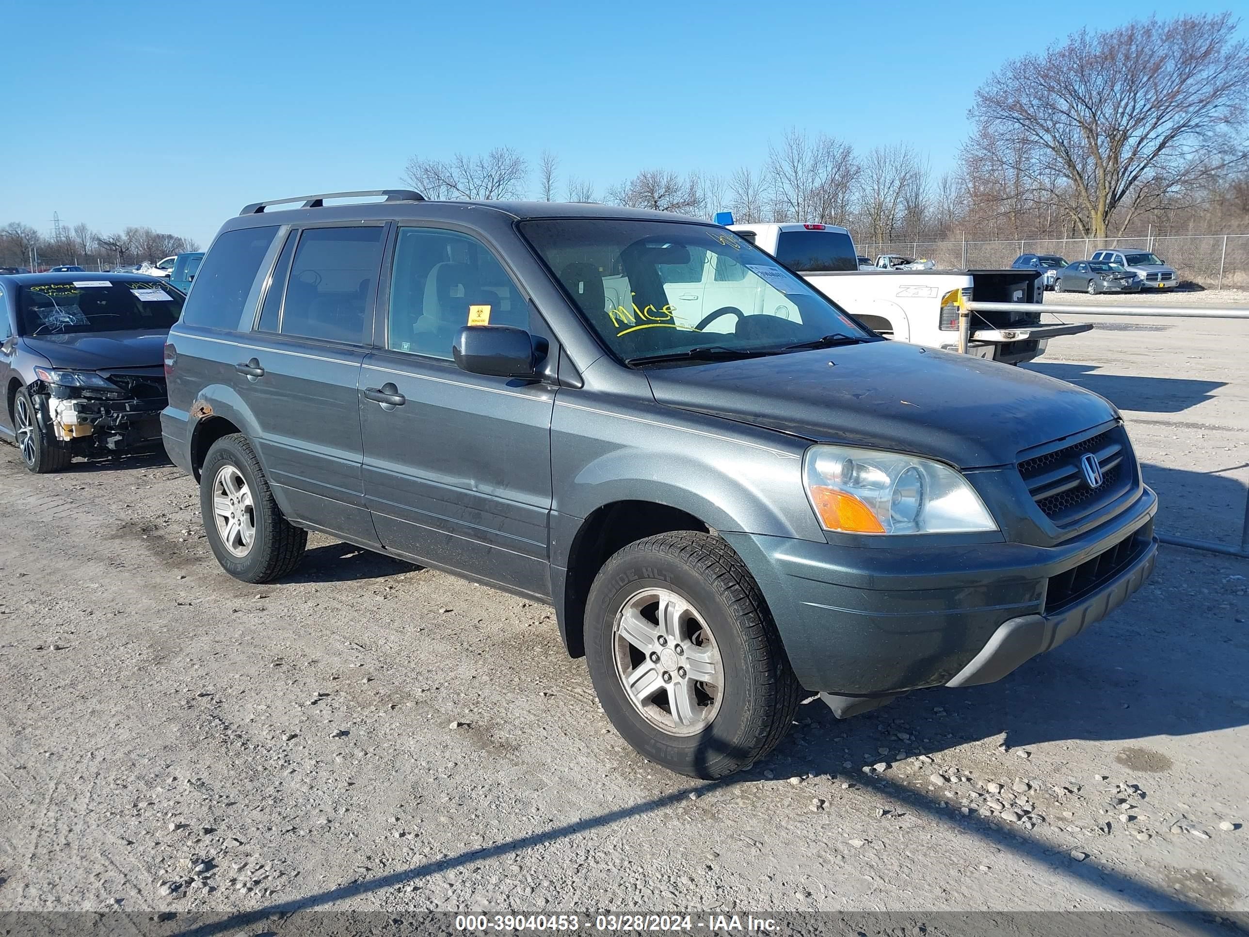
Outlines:
<svg viewBox="0 0 1249 937"><path fill-rule="evenodd" d="M722 536L758 580L803 687L891 696L1000 680L1109 615L1154 568L1157 507L1143 488L1130 508L1053 547ZM1097 575L1099 558L1120 555Z"/></svg>

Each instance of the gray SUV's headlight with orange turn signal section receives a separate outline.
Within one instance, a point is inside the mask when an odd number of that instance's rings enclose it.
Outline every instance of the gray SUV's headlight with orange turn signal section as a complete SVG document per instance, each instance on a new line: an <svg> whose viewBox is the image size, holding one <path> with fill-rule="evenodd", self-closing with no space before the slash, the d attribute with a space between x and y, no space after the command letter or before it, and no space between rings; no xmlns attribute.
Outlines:
<svg viewBox="0 0 1249 937"><path fill-rule="evenodd" d="M807 495L824 530L843 533L995 531L967 478L927 459L848 446L812 446Z"/></svg>

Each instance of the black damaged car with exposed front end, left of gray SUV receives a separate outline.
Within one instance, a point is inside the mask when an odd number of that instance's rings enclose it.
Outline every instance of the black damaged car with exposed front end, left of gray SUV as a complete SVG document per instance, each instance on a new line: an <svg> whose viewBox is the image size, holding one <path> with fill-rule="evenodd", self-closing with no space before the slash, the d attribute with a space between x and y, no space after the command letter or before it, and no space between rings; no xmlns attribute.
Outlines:
<svg viewBox="0 0 1249 937"><path fill-rule="evenodd" d="M0 276L0 437L32 472L160 445L162 349L182 295L134 274Z"/></svg>

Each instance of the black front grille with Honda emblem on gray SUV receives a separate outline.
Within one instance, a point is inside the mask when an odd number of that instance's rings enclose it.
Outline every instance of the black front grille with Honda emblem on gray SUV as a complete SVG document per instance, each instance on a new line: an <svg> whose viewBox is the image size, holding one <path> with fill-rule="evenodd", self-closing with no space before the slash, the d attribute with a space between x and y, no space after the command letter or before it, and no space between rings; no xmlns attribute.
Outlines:
<svg viewBox="0 0 1249 937"><path fill-rule="evenodd" d="M1102 473L1102 483L1097 487L1088 483L1080 465L1087 454L1097 459ZM1120 426L1029 456L1018 467L1037 507L1059 527L1119 497L1132 487L1134 478L1132 449Z"/></svg>

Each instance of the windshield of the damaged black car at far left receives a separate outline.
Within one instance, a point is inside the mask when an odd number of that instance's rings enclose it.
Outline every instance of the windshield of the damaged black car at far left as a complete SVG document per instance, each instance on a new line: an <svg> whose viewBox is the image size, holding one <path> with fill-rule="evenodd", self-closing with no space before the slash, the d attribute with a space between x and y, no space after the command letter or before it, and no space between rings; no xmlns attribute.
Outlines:
<svg viewBox="0 0 1249 937"><path fill-rule="evenodd" d="M182 295L152 281L75 280L21 287L19 331L35 337L66 332L169 329Z"/></svg>

